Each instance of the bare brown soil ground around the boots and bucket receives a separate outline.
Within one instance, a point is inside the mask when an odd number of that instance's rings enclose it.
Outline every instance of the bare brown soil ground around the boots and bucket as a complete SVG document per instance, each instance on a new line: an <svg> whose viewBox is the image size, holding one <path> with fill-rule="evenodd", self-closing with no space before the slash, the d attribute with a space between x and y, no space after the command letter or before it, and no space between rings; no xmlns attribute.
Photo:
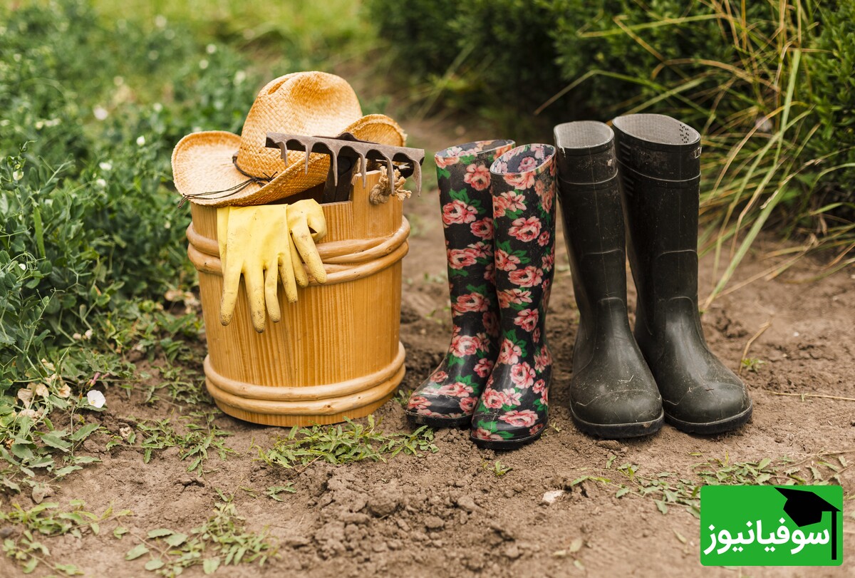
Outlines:
<svg viewBox="0 0 855 578"><path fill-rule="evenodd" d="M427 148L428 154L464 140L459 135L428 137L410 130L416 145ZM407 348L403 388L409 391L439 362L451 326L435 192L428 189L421 198L406 201L406 211L414 230L410 255L404 260L401 326ZM758 257L774 248L771 239L764 243L746 259L733 286L772 264ZM547 321L556 360L550 396L552 428L534 445L510 452L482 451L469 442L466 430L439 431L435 442L439 451L423 457L399 455L387 463L346 466L315 463L297 473L268 466L255 459L257 452L251 449L272 445L286 430L222 415L216 424L233 433L227 445L237 454L225 462L212 457L210 471L202 476L187 473L187 462L180 460L176 448L156 452L144 464L141 451L121 447L106 451L109 436L98 434L85 448L103 463L68 476L50 499L67 504L69 499L84 498L96 509L112 503L117 510L133 510L134 516L121 522L133 536L164 526L187 532L208 518L217 488L233 492L239 514L251 528L269 529L278 555L262 567L241 564L217 572L228 576L852 575L855 519L851 511L845 516L842 568L704 568L699 564L699 521L685 508L672 505L663 514L653 497L630 492L617 498L615 485L573 482L584 475L627 482L616 471L621 463L637 464L640 474L653 477L671 472L697 480L692 469L696 463L788 457L810 480L811 465L819 475L834 474L820 464L823 459L843 455L855 462L855 402L781 395L855 398L855 271L812 284L793 284L817 273L815 264L804 261L785 278L743 286L717 299L705 312L703 323L711 348L734 370L740 367L746 344L769 323L746 356L765 363L756 372L741 374L754 400L753 421L746 428L699 437L666 425L651 437L617 443L579 433L566 409L578 312L563 245L558 253ZM701 263L700 278L701 287L711 286L710 257ZM634 302L632 287L630 297ZM174 405L144 404L139 391L129 398L120 391L108 392L108 397L109 408L98 419L112 433L118 433L128 416L178 418ZM382 418L381 428L386 431L412 431L401 404L394 400L375 416ZM512 469L495 475L496 460ZM612 467L606 470L609 461ZM852 474L852 469L840 473L848 497L855 493ZM282 502L264 496L264 488L287 482L293 483L296 492L281 494ZM255 489L257 497L242 487ZM564 492L546 504L544 493L554 490ZM27 496L11 501L32 506ZM45 544L53 558L76 563L87 575L151 575L143 569L145 558L125 561L133 537L115 540L113 525L105 524L97 536L49 539ZM20 572L8 558L0 557L0 575ZM199 576L203 571L197 566L185 575Z"/></svg>

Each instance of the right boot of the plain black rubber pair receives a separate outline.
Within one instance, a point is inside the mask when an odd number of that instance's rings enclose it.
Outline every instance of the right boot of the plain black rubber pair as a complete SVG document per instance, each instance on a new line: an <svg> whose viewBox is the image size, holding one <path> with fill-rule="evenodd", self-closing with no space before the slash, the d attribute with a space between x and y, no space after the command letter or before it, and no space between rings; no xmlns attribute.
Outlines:
<svg viewBox="0 0 855 578"><path fill-rule="evenodd" d="M698 312L700 135L664 115L614 121L638 305L635 340L665 420L722 433L752 415L746 386L706 345Z"/></svg>

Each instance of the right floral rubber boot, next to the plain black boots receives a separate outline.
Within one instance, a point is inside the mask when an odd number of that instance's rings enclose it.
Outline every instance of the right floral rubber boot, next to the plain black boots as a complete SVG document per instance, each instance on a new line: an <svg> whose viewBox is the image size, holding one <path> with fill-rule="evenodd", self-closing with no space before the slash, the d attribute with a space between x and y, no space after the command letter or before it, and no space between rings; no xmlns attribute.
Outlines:
<svg viewBox="0 0 855 578"><path fill-rule="evenodd" d="M470 437L482 448L511 450L540 438L548 419L552 356L545 318L555 263L555 148L516 147L490 172L501 342Z"/></svg>

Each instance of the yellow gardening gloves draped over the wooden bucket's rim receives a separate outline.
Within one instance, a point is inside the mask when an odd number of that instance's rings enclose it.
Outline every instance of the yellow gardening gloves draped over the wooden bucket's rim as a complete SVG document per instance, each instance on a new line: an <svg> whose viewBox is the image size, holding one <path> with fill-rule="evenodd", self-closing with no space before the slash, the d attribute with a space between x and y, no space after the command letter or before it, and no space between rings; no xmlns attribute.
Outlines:
<svg viewBox="0 0 855 578"><path fill-rule="evenodd" d="M307 203L301 201L300 203ZM308 203L315 203L308 201ZM299 204L299 203L298 203ZM309 279L300 260L301 255L310 263L310 271L319 283L327 280L321 257L309 234L308 244L304 233L312 228L317 238L326 233L327 223L320 220L315 212L311 219L300 218L302 211L295 214L293 222L298 227L302 247L295 248L289 232L290 208L286 204L259 205L252 207L222 207L217 209L217 239L220 245L220 260L223 272L222 301L220 321L228 325L232 321L234 306L238 301L240 276L244 276L246 298L249 301L252 327L258 333L264 331L266 321L265 306L270 319L280 321L279 299L276 296L277 285L281 277L285 286L285 295L289 302L297 301L297 286L307 286ZM305 230L305 231L304 231ZM320 268L321 274L316 273Z"/></svg>

